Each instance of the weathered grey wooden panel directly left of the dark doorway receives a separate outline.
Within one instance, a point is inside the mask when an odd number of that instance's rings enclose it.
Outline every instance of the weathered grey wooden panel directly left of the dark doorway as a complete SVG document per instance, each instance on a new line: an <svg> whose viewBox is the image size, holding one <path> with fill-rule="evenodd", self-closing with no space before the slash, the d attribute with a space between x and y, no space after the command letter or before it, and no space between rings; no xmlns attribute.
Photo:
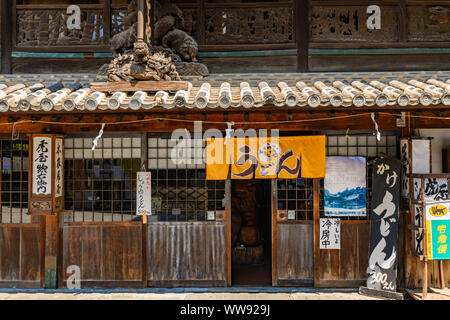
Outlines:
<svg viewBox="0 0 450 320"><path fill-rule="evenodd" d="M220 222L150 223L149 285L226 285L225 239Z"/></svg>

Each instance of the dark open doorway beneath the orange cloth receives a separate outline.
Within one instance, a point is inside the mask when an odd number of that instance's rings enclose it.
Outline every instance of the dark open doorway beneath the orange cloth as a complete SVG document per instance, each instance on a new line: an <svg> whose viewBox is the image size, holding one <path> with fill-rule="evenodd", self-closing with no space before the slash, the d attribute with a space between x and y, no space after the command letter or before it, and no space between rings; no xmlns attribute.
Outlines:
<svg viewBox="0 0 450 320"><path fill-rule="evenodd" d="M270 180L232 180L232 285L272 285L271 248Z"/></svg>

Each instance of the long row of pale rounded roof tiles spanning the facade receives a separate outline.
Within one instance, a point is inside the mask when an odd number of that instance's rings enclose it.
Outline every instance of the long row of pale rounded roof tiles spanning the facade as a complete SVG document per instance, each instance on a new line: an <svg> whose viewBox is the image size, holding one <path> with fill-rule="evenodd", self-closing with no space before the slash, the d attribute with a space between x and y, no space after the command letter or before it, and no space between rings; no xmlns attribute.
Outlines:
<svg viewBox="0 0 450 320"><path fill-rule="evenodd" d="M450 72L213 74L189 91L94 92L93 74L0 75L0 111L450 105Z"/></svg>

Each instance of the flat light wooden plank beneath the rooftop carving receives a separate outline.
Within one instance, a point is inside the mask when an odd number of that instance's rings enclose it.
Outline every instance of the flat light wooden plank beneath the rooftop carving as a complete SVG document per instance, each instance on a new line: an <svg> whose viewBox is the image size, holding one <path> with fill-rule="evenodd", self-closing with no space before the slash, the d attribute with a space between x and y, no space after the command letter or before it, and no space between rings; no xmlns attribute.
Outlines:
<svg viewBox="0 0 450 320"><path fill-rule="evenodd" d="M135 83L120 82L95 82L91 84L92 91L174 91L188 90L187 81L137 81Z"/></svg>

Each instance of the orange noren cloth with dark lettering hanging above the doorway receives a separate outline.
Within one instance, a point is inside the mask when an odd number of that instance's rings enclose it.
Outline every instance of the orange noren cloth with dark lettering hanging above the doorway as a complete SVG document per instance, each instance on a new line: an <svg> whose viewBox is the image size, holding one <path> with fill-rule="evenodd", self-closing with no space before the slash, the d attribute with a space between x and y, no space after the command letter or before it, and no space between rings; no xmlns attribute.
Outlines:
<svg viewBox="0 0 450 320"><path fill-rule="evenodd" d="M325 136L214 138L206 145L206 179L325 177ZM301 168L301 170L300 170Z"/></svg>

